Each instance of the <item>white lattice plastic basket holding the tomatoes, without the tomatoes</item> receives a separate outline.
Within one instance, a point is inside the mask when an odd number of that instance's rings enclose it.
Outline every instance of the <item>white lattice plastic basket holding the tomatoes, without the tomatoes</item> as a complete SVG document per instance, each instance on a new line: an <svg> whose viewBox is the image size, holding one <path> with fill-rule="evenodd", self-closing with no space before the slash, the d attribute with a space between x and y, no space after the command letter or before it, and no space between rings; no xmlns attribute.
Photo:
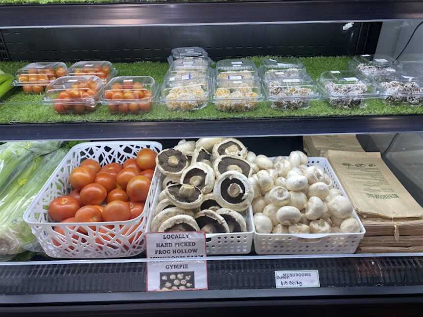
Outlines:
<svg viewBox="0 0 423 317"><path fill-rule="evenodd" d="M24 214L25 222L48 256L74 259L112 258L134 256L144 251L146 217L153 203L152 193L158 185L157 171L151 181L144 211L135 219L62 224L50 222L48 217L50 202L71 191L69 175L82 160L92 158L102 166L112 162L123 163L127 158L136 158L138 151L143 148L160 152L162 145L147 141L114 141L80 143L71 148ZM54 231L55 227L60 227L64 234ZM79 232L80 228L87 233Z"/></svg>

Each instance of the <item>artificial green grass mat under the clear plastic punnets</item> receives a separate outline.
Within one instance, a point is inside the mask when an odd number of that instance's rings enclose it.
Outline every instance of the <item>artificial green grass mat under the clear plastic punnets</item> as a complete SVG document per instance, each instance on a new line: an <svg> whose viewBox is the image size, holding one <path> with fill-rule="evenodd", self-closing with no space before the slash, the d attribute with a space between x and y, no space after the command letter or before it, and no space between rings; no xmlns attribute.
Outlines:
<svg viewBox="0 0 423 317"><path fill-rule="evenodd" d="M257 66L262 58L252 57ZM348 69L350 57L305 57L300 58L313 79L319 78L325 70ZM0 62L4 72L15 73L27 62ZM169 67L167 63L115 63L119 76L148 75L158 83L162 83ZM68 65L69 66L69 65ZM301 110L275 110L268 103L262 102L256 110L225 113L214 108L212 104L192 112L171 112L165 105L154 105L149 113L143 114L111 114L107 107L99 105L93 113L58 114L52 107L41 105L43 95L25 94L19 91L9 97L0 108L0 123L47 123L47 122L97 122L97 121L143 121L143 120L195 120L226 118L274 118L274 117L309 117L309 116L347 116L347 115L401 115L423 114L423 107L388 106L382 100L367 100L367 107L362 109L334 109L325 101L312 101L311 107Z"/></svg>

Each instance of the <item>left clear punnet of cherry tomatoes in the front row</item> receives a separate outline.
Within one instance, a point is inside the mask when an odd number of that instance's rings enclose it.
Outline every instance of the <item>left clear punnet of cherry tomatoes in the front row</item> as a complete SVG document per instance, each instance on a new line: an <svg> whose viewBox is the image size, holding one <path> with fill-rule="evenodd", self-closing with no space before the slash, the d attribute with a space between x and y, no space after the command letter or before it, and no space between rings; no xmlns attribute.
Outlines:
<svg viewBox="0 0 423 317"><path fill-rule="evenodd" d="M63 76L46 88L44 103L57 113L86 113L95 110L104 84L97 76Z"/></svg>

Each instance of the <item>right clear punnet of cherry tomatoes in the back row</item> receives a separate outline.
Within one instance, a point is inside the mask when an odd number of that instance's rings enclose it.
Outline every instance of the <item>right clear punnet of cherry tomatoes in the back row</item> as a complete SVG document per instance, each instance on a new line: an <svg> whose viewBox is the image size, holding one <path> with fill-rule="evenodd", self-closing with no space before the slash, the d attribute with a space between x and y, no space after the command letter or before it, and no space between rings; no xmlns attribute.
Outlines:
<svg viewBox="0 0 423 317"><path fill-rule="evenodd" d="M118 71L107 61L85 61L73 64L67 71L68 76L97 76L104 83L116 76Z"/></svg>

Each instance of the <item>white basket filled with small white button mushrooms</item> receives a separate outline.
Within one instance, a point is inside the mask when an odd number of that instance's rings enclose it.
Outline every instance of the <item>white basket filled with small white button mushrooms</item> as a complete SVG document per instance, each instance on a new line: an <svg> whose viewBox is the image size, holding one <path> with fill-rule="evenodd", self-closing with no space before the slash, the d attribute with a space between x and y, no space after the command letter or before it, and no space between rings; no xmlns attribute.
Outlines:
<svg viewBox="0 0 423 317"><path fill-rule="evenodd" d="M326 158L249 152L258 254L354 253L366 230Z"/></svg>

